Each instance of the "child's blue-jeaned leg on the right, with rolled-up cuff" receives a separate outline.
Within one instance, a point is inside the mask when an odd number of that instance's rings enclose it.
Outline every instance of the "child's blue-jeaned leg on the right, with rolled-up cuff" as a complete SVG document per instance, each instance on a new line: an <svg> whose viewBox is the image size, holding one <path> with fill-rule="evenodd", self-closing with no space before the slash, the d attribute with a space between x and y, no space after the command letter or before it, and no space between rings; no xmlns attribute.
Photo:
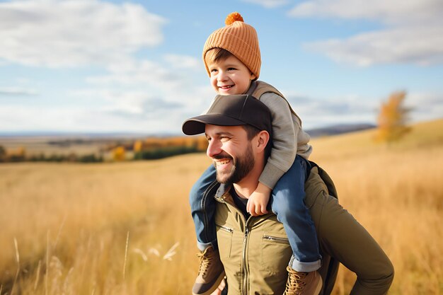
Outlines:
<svg viewBox="0 0 443 295"><path fill-rule="evenodd" d="M304 204L306 160L298 156L272 190L270 204L289 238L293 259L289 267L297 272L313 272L321 266L316 230Z"/></svg>

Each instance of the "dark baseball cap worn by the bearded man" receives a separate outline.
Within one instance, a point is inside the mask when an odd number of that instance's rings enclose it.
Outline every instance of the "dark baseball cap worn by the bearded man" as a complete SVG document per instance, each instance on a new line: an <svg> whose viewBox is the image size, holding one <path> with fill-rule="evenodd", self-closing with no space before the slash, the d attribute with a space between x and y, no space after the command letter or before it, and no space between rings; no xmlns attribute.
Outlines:
<svg viewBox="0 0 443 295"><path fill-rule="evenodd" d="M183 123L186 135L205 133L205 125L251 125L259 130L272 132L272 117L267 106L248 94L216 96L205 115L192 117Z"/></svg>

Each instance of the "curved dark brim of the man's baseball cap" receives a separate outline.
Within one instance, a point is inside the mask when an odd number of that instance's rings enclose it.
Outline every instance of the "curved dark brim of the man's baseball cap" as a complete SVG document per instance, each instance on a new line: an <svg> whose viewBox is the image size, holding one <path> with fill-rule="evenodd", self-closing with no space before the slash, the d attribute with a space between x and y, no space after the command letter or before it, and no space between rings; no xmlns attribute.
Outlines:
<svg viewBox="0 0 443 295"><path fill-rule="evenodd" d="M222 114L208 114L192 117L183 123L182 130L186 135L195 135L205 133L205 125L219 125L219 126L238 126L246 125L245 122L226 117Z"/></svg>

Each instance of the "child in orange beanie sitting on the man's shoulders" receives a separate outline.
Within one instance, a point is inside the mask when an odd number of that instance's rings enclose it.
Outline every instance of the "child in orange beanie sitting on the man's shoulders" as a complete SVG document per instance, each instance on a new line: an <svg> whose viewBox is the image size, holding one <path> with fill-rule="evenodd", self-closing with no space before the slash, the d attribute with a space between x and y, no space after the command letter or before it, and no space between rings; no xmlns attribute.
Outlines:
<svg viewBox="0 0 443 295"><path fill-rule="evenodd" d="M301 129L301 120L282 94L269 84L256 81L261 61L255 29L244 23L239 13L229 14L225 23L224 28L209 35L203 49L212 87L219 95L252 94L272 113L271 154L257 189L248 199L247 210L252 216L266 214L270 201L272 212L284 226L294 253L289 262L289 276L292 282L299 283L287 284L285 294L296 291L301 291L297 294L318 294L322 282L316 270L321 266L321 256L313 221L303 202L309 165L306 160L312 151L309 135ZM297 179L285 177L288 170L297 175ZM194 295L211 294L224 277L214 224L215 201L205 194L215 179L216 171L211 166L190 192L197 246L201 251L200 270L192 288Z"/></svg>

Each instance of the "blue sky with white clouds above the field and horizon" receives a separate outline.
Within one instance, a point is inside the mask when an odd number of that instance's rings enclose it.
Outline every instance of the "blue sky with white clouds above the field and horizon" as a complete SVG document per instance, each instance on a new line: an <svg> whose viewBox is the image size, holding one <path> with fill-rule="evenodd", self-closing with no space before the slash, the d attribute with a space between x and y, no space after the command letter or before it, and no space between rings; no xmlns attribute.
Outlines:
<svg viewBox="0 0 443 295"><path fill-rule="evenodd" d="M180 134L215 96L207 37L238 11L304 129L443 117L443 1L0 1L0 133Z"/></svg>

